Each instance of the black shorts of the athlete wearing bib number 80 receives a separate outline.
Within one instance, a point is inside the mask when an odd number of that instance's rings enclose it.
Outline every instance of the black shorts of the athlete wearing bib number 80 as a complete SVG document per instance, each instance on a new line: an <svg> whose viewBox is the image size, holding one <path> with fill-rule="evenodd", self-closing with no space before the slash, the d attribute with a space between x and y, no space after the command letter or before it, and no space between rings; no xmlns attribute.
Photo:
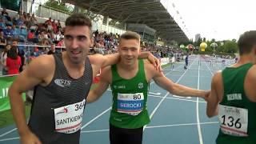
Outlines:
<svg viewBox="0 0 256 144"><path fill-rule="evenodd" d="M143 127L123 129L110 124L110 144L142 144Z"/></svg>

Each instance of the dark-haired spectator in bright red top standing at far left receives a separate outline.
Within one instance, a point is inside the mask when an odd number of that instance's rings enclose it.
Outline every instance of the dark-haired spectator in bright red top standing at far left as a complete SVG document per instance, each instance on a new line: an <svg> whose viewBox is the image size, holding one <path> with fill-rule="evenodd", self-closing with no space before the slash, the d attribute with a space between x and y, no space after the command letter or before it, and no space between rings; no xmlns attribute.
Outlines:
<svg viewBox="0 0 256 144"><path fill-rule="evenodd" d="M18 74L19 67L22 65L22 60L18 56L16 47L11 47L6 58L7 74Z"/></svg>

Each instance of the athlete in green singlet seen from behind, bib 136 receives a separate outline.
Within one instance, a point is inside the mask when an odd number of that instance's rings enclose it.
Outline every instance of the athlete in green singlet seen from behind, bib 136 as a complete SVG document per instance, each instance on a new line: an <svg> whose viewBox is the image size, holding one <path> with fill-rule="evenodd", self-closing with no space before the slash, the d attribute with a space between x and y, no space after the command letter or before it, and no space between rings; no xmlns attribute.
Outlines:
<svg viewBox="0 0 256 144"><path fill-rule="evenodd" d="M218 115L217 144L256 143L256 30L238 40L240 58L214 74L207 98L207 115Z"/></svg>

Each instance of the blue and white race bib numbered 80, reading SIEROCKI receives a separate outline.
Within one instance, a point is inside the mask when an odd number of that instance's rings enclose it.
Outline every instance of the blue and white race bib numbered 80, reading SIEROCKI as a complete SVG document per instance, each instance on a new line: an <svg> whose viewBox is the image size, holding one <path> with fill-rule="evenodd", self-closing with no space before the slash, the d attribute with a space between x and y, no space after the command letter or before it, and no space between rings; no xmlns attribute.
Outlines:
<svg viewBox="0 0 256 144"><path fill-rule="evenodd" d="M143 110L144 94L118 94L118 113L138 115Z"/></svg>

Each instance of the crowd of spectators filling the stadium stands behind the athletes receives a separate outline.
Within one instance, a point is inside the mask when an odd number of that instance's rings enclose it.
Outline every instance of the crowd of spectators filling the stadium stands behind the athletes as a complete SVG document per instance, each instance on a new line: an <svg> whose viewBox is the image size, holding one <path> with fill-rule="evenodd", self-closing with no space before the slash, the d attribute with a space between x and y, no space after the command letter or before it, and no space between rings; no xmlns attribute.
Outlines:
<svg viewBox="0 0 256 144"><path fill-rule="evenodd" d="M119 34L107 34L106 31L94 31L94 46L90 50L90 54L116 53L119 36ZM40 23L34 14L22 13L22 11L18 11L14 17L11 17L6 9L3 8L0 15L0 71L2 71L2 75L18 74L26 63L30 61L30 58L37 57L40 54L53 54L55 46L64 48L63 39L63 25L59 20L49 18ZM178 48L166 48L146 42L142 42L141 46L142 50L151 51L157 58L182 54L182 50ZM8 58L8 52L11 51L11 47L16 47L18 55ZM65 48L62 50L65 50ZM61 49L56 49L56 52L60 51ZM10 66L10 63L14 61L21 61L18 62L20 66ZM10 69L15 70L8 72Z"/></svg>

